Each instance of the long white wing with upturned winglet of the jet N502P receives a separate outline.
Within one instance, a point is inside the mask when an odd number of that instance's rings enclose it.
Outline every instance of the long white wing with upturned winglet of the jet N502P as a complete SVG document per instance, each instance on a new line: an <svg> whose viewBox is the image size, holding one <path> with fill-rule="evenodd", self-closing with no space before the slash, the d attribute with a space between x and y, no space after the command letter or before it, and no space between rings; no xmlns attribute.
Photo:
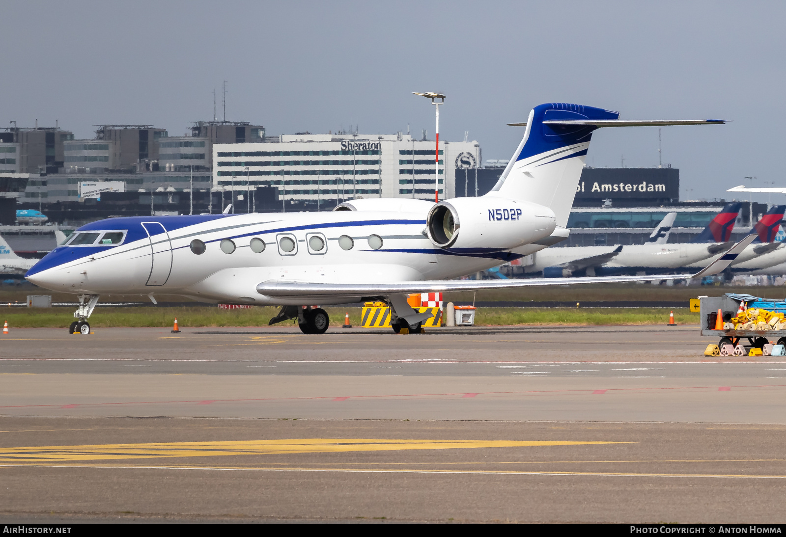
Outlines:
<svg viewBox="0 0 786 537"><path fill-rule="evenodd" d="M509 289L513 287L538 287L544 285L567 285L570 283L623 283L648 282L653 279L688 279L712 276L723 272L742 250L756 238L751 233L731 247L725 254L696 274L661 276L604 276L582 278L533 278L533 279L437 279L411 280L395 283L317 283L301 281L268 280L256 287L259 294L270 297L329 297L329 296L376 296L402 293L439 293L459 290Z"/></svg>

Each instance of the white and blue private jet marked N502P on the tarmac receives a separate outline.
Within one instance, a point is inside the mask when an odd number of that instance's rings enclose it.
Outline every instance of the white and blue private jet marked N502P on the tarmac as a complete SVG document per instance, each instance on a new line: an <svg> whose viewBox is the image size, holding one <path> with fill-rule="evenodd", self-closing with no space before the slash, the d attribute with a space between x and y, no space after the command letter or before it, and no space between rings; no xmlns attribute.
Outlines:
<svg viewBox="0 0 786 537"><path fill-rule="evenodd" d="M384 300L398 331L417 329L430 316L407 305L412 292L646 280L447 281L567 238L564 226L594 130L723 122L618 118L618 112L578 104L535 107L498 184L479 198L356 199L330 213L109 218L79 228L27 278L79 294L71 331L83 333L101 294L281 305L271 323L297 318L303 332L322 333L329 323L325 311L303 305ZM725 258L733 259L738 247ZM703 273L729 262L718 260Z"/></svg>

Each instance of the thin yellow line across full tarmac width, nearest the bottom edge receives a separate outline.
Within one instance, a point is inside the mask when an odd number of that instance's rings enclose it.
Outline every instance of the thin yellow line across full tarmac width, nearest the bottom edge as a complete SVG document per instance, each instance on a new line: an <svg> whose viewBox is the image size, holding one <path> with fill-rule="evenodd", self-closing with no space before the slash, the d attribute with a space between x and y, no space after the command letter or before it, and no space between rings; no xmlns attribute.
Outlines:
<svg viewBox="0 0 786 537"><path fill-rule="evenodd" d="M636 473L636 472L525 472L519 470L448 470L448 469L347 469L347 468L248 468L244 466L120 466L120 465L61 465L61 464L5 464L2 467L24 466L37 468L104 468L104 469L174 469L223 470L234 472L334 472L334 473L448 473L468 475L553 476L553 477L710 477L725 479L786 479L779 474L747 473Z"/></svg>

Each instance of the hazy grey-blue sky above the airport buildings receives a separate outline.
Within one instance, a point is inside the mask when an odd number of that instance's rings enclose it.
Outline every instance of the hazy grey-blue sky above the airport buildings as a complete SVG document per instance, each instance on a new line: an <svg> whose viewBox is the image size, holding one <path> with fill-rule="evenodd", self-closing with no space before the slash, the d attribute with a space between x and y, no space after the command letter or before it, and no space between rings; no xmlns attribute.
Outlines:
<svg viewBox="0 0 786 537"><path fill-rule="evenodd" d="M267 133L465 130L509 159L543 102L622 119L730 119L663 128L681 199L786 186L784 2L11 2L0 0L0 127L152 123L182 136L222 118ZM656 128L595 133L591 166L656 166ZM745 176L758 177L755 181ZM783 196L780 196L781 198ZM766 201L767 195L758 195ZM757 197L754 197L757 200ZM779 198L780 200L780 198ZM776 199L773 199L773 202Z"/></svg>

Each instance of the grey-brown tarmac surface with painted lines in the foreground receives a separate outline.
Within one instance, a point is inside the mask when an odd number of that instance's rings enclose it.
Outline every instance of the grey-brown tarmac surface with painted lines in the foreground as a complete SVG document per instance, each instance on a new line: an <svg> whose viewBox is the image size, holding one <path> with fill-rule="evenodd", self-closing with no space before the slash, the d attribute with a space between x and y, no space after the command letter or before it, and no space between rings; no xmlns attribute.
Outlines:
<svg viewBox="0 0 786 537"><path fill-rule="evenodd" d="M777 521L786 360L707 360L708 342L14 330L0 519Z"/></svg>

